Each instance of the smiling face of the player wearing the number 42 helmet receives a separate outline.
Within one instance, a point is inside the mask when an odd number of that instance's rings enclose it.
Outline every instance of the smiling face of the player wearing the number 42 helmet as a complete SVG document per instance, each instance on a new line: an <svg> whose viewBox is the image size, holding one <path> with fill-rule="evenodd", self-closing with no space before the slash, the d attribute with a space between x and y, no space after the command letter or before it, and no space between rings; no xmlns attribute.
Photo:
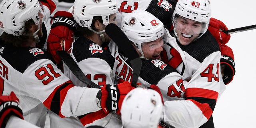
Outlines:
<svg viewBox="0 0 256 128"><path fill-rule="evenodd" d="M162 37L150 41L150 42L144 42L141 44L142 46L142 52L144 54L144 57L149 60L161 60L160 52L162 52L164 45L164 41Z"/></svg>

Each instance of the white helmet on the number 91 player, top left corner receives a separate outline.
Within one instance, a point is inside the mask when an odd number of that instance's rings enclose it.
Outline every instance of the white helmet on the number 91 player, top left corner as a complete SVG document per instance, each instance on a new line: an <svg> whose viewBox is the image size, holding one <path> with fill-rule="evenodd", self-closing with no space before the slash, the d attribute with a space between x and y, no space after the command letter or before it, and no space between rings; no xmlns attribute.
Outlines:
<svg viewBox="0 0 256 128"><path fill-rule="evenodd" d="M3 0L0 4L0 27L4 32L20 36L25 30L25 22L32 19L40 24L38 0Z"/></svg>

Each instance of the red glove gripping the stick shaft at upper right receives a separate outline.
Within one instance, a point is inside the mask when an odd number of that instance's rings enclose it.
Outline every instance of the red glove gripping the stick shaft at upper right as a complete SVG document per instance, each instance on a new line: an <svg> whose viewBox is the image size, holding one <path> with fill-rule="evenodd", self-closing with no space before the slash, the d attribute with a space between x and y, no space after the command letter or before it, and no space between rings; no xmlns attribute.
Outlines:
<svg viewBox="0 0 256 128"><path fill-rule="evenodd" d="M226 44L230 39L230 34L226 34L222 32L224 30L228 30L228 28L220 20L217 20L215 18L210 18L208 30L211 32L211 34L220 44Z"/></svg>

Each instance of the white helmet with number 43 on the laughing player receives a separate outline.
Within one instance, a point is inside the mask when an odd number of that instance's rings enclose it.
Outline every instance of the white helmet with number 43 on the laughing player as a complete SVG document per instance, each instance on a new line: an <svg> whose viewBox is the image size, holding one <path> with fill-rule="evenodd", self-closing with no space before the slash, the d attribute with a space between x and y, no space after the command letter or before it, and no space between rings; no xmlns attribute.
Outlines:
<svg viewBox="0 0 256 128"><path fill-rule="evenodd" d="M202 36L208 29L211 18L211 6L209 0L178 0L174 13L172 15L172 24L174 26L174 33L176 33L176 22L179 16L193 21L202 22L202 30L199 33L192 33ZM178 36L177 36L178 37Z"/></svg>

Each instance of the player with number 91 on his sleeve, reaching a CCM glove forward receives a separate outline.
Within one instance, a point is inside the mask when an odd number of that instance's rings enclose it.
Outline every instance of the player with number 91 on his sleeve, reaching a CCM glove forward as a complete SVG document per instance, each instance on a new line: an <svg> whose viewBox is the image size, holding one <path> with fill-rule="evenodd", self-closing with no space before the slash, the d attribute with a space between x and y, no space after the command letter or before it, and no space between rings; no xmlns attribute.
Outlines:
<svg viewBox="0 0 256 128"><path fill-rule="evenodd" d="M4 41L0 44L0 94L15 92L24 119L39 127L44 127L47 109L62 118L75 118L102 109L116 110L111 107L108 91L120 96L115 101L121 108L119 99L132 89L128 82L122 86L111 85L116 90L110 89L110 85L101 89L74 86L55 66L51 55L35 47L37 37L43 33L44 15L40 8L38 0L4 0L0 4L1 29L4 30L0 37ZM78 126L62 123L66 128Z"/></svg>

